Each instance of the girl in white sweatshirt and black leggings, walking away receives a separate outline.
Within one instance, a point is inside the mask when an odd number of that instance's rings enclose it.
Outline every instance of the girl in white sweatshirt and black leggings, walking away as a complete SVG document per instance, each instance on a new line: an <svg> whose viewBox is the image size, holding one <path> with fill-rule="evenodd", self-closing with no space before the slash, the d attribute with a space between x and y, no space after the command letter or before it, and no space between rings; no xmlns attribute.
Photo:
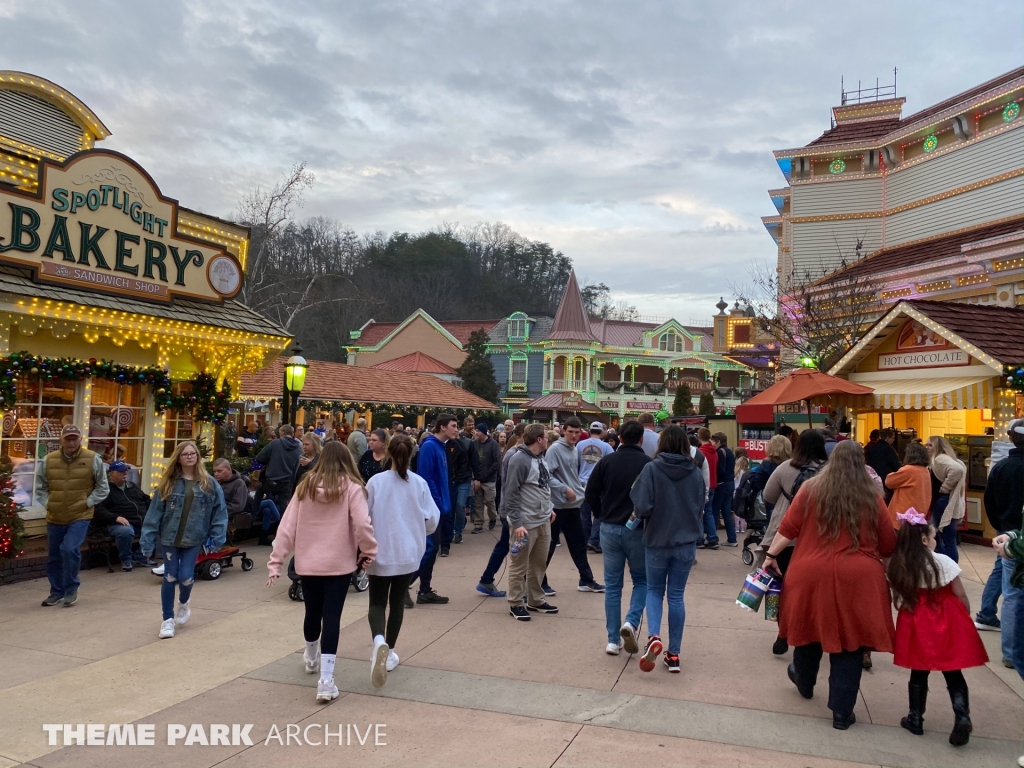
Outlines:
<svg viewBox="0 0 1024 768"><path fill-rule="evenodd" d="M374 637L370 679L375 688L387 682L398 666L394 652L401 630L409 585L420 567L427 537L434 532L440 510L430 496L427 481L409 471L413 442L404 436L388 445L391 469L367 483L370 519L377 539L377 557L367 571L370 578L370 633ZM385 620L385 609L390 612Z"/></svg>

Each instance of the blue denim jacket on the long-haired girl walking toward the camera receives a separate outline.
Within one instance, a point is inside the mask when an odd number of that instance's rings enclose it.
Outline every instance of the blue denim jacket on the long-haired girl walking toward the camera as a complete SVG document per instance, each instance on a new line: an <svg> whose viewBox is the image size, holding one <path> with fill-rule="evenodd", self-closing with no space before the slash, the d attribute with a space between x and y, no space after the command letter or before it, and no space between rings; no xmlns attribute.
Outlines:
<svg viewBox="0 0 1024 768"><path fill-rule="evenodd" d="M203 493L196 486L193 506L181 537L181 543L175 545L178 535L178 524L181 521L181 510L185 503L185 481L178 478L174 489L164 501L160 494L153 495L150 509L142 521L142 535L138 540L138 548L143 554L152 554L156 549L157 535L160 535L162 547L198 547L207 538L213 540L213 548L220 549L227 539L227 505L224 504L224 492L220 483L210 478L211 493Z"/></svg>

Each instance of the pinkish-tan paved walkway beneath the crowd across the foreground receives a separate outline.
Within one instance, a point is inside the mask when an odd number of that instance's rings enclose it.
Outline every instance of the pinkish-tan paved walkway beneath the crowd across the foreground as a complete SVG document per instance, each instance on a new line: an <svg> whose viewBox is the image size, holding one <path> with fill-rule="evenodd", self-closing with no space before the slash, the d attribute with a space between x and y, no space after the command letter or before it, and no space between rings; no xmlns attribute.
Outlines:
<svg viewBox="0 0 1024 768"><path fill-rule="evenodd" d="M575 590L564 548L550 581L558 615L513 622L504 600L473 589L494 536L466 536L438 561L445 606L407 612L402 664L370 685L366 595L349 593L336 679L342 695L313 701L302 672L301 615L287 584L266 589L257 565L201 582L193 617L158 640L159 581L146 569L83 573L73 608L39 607L45 582L0 588L0 768L33 766L679 765L1011 766L1021 754L1024 685L999 664L997 633L982 633L994 664L968 671L975 733L954 750L952 714L933 681L926 734L899 727L907 673L876 654L857 724L831 728L824 675L800 697L785 676L792 653L771 654L775 625L734 604L744 567L738 550L698 553L686 594L682 674L639 671L604 653L603 598ZM965 547L976 606L993 559ZM591 555L600 573L600 557ZM504 573L502 574L504 577ZM502 580L504 583L504 580ZM50 746L44 723L152 723L154 746ZM166 743L167 724L253 724L253 745ZM267 742L289 724L310 741L345 725L344 745ZM366 735L382 726L381 745ZM311 728L306 729L307 726ZM364 743L359 743L359 739ZM337 737L335 737L337 740Z"/></svg>

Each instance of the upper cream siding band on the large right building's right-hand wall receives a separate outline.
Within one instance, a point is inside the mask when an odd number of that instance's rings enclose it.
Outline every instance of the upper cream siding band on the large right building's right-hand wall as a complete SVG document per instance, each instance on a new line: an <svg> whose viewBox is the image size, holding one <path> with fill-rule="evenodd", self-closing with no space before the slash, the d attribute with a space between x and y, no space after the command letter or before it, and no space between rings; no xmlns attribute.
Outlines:
<svg viewBox="0 0 1024 768"><path fill-rule="evenodd" d="M1024 123L1021 128L983 139L948 155L910 168L895 169L886 179L887 206L897 208L1024 167L1022 134ZM841 212L845 211L836 211Z"/></svg>

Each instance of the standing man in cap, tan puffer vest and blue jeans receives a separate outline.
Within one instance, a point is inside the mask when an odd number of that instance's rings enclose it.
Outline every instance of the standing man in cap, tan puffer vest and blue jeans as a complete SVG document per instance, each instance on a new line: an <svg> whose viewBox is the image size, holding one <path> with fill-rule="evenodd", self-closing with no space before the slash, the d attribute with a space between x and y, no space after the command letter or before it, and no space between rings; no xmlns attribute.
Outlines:
<svg viewBox="0 0 1024 768"><path fill-rule="evenodd" d="M109 493L102 459L82 447L78 426L66 424L60 430L60 450L36 460L36 502L46 508L49 544L50 594L44 606L63 603L68 608L78 600L82 544L93 509Z"/></svg>

